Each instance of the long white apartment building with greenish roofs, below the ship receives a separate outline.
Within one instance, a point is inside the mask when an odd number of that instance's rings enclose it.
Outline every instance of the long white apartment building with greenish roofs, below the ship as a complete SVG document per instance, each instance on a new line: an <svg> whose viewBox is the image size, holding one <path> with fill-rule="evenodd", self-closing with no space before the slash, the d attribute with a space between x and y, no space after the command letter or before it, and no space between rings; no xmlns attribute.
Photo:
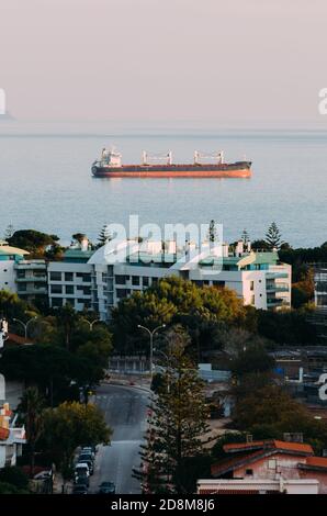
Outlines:
<svg viewBox="0 0 327 516"><path fill-rule="evenodd" d="M120 254L120 256L119 256ZM71 303L77 311L94 310L103 321L120 300L147 289L158 280L177 276L199 285L234 290L245 304L270 310L291 306L291 266L279 261L278 253L255 253L238 243L234 253L223 246L218 256L187 244L121 242L91 251L87 245L70 248L64 261L48 265L48 295L52 307Z"/></svg>

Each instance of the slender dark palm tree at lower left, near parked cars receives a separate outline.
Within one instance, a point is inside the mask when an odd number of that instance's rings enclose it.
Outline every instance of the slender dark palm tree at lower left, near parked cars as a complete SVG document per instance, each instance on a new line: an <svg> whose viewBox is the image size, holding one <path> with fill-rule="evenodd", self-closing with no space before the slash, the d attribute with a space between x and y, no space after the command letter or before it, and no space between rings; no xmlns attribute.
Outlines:
<svg viewBox="0 0 327 516"><path fill-rule="evenodd" d="M24 422L26 438L31 447L31 476L35 467L35 446L43 430L44 399L36 386L27 388L18 406L20 417Z"/></svg>

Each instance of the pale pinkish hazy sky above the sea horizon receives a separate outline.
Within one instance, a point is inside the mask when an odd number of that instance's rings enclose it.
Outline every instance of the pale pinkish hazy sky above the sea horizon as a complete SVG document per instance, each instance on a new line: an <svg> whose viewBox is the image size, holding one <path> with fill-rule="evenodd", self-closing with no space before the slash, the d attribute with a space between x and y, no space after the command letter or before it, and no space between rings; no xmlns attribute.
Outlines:
<svg viewBox="0 0 327 516"><path fill-rule="evenodd" d="M0 0L0 88L19 119L318 120L326 20L326 0Z"/></svg>

